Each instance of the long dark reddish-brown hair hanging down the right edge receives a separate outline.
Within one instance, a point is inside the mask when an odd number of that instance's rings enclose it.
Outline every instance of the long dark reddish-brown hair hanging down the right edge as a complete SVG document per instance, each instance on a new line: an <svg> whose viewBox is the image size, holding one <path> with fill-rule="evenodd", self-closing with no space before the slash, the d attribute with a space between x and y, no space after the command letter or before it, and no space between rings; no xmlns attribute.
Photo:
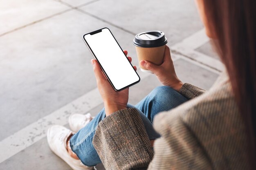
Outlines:
<svg viewBox="0 0 256 170"><path fill-rule="evenodd" d="M256 132L256 0L203 0L216 35L248 138L248 159L255 166Z"/></svg>

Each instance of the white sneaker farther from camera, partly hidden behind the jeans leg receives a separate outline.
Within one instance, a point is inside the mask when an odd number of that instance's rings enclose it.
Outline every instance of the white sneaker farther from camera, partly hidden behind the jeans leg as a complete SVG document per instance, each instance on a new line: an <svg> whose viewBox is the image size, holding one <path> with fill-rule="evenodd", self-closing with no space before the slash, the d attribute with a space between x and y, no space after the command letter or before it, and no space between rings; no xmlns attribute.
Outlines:
<svg viewBox="0 0 256 170"><path fill-rule="evenodd" d="M68 118L68 124L70 125L70 129L73 132L78 132L81 128L85 127L93 117L90 113L87 113L85 115L83 114L71 114Z"/></svg>

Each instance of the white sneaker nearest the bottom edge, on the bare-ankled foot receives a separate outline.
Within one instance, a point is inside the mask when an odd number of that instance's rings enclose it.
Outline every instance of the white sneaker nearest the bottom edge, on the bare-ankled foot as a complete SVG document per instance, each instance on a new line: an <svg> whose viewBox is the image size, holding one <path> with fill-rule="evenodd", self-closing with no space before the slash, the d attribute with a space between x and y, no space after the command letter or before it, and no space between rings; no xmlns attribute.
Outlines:
<svg viewBox="0 0 256 170"><path fill-rule="evenodd" d="M67 152L67 138L73 132L64 126L53 125L47 131L47 142L50 149L63 159L73 170L93 170L94 167L85 166L79 159L72 158Z"/></svg>

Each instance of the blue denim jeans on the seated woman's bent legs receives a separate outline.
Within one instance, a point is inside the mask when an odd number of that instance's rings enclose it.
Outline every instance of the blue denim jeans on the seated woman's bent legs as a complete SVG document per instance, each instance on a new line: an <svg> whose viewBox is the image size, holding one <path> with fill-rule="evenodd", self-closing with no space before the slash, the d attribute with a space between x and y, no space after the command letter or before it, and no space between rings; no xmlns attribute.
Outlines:
<svg viewBox="0 0 256 170"><path fill-rule="evenodd" d="M162 111L171 110L187 100L180 93L173 90L173 88L159 86L136 104L136 106L127 104L127 108L136 108L139 111L149 139L157 139L160 136L155 132L152 125L155 115ZM86 166L95 166L101 163L101 159L92 145L92 139L97 125L105 117L106 114L103 108L89 124L79 130L70 139L71 149Z"/></svg>

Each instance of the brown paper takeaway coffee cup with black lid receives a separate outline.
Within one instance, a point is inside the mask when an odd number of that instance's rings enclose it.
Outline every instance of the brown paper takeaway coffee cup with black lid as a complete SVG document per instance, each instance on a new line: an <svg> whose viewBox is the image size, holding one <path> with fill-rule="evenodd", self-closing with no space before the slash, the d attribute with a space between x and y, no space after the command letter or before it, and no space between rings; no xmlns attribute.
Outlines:
<svg viewBox="0 0 256 170"><path fill-rule="evenodd" d="M167 38L162 31L148 31L138 33L133 40L139 63L141 60L150 61L156 65L161 65L164 59L164 48ZM152 73L139 64L141 71Z"/></svg>

